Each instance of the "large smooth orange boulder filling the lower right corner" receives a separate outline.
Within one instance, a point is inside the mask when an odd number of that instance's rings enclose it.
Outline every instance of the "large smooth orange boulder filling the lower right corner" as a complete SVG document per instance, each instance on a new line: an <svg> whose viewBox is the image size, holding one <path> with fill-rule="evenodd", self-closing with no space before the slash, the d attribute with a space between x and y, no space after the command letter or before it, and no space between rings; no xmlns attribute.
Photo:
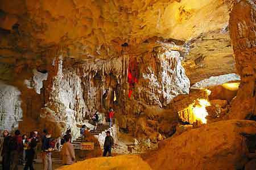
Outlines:
<svg viewBox="0 0 256 170"><path fill-rule="evenodd" d="M254 134L255 121L220 121L193 128L160 142L158 151L142 155L152 169L236 169L247 147L242 132Z"/></svg>

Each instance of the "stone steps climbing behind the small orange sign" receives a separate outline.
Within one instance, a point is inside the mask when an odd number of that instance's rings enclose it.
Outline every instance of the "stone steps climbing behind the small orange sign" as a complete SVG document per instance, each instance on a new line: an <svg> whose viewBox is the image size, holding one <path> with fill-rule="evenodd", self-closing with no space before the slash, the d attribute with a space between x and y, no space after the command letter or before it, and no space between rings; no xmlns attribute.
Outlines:
<svg viewBox="0 0 256 170"><path fill-rule="evenodd" d="M109 123L106 122L102 125L98 125L96 130L91 130L90 134L92 134L94 136L98 136L99 134L101 134L104 131L107 131L108 129L109 129ZM79 138L73 140L72 144L73 144L74 149L80 150L81 142L82 142L81 136L79 136Z"/></svg>

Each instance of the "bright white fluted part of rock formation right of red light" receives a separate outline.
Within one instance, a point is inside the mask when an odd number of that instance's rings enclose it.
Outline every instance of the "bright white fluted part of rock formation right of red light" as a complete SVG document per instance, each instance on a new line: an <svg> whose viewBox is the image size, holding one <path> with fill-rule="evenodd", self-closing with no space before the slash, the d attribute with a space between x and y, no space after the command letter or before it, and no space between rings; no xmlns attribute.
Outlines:
<svg viewBox="0 0 256 170"><path fill-rule="evenodd" d="M188 94L190 84L181 65L180 53L163 48L156 57L160 61L159 77L150 68L149 74L143 73L143 77L150 80L148 86L152 97L161 95L168 104L178 94Z"/></svg>

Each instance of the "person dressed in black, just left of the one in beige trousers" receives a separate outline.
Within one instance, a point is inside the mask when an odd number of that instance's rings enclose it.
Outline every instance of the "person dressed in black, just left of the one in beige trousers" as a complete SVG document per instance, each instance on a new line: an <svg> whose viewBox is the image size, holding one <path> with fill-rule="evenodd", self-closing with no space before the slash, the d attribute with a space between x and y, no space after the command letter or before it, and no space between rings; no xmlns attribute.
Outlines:
<svg viewBox="0 0 256 170"><path fill-rule="evenodd" d="M33 159L35 155L35 147L36 147L36 138L35 132L30 132L30 139L27 141L27 150L26 150L26 164L24 170L30 168L30 170L34 170L33 168Z"/></svg>

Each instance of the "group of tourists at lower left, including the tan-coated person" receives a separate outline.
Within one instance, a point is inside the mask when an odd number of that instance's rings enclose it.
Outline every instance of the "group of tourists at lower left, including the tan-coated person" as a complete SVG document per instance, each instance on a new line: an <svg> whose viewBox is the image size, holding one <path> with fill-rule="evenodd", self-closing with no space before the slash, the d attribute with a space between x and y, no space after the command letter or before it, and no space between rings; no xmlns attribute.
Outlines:
<svg viewBox="0 0 256 170"><path fill-rule="evenodd" d="M75 163L75 151L71 144L71 131L64 135L65 142L61 148L61 157L63 164ZM26 134L20 135L19 130L15 130L13 135L10 135L7 130L3 131L3 136L0 140L0 151L2 156L3 170L18 170L18 165L23 164L24 170L28 168L33 170L33 163L37 155L37 146L42 144L41 156L43 161L43 169L52 169L52 151L57 150L57 139L52 138L51 134L45 128L43 136L40 140L38 131L31 131L30 136Z"/></svg>

